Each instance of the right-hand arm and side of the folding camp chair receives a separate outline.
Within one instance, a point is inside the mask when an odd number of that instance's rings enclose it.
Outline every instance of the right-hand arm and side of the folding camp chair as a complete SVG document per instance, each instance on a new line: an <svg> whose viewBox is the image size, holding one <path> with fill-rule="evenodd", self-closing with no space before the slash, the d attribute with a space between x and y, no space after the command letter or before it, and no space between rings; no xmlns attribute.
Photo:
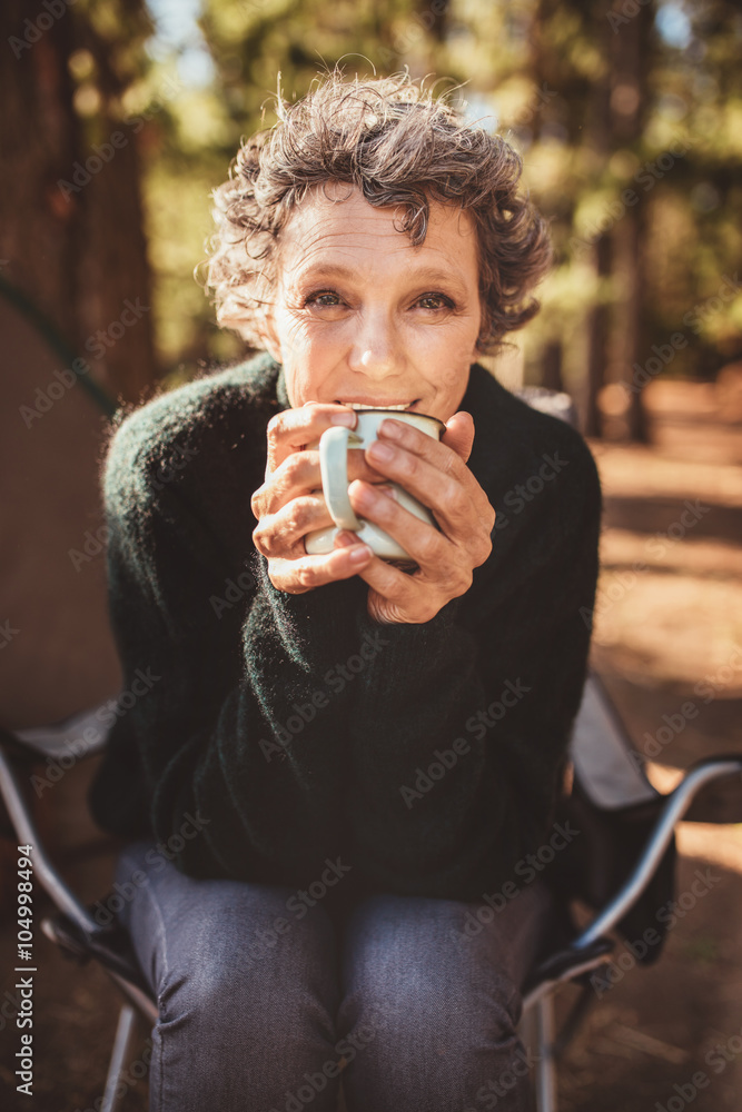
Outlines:
<svg viewBox="0 0 742 1112"><path fill-rule="evenodd" d="M637 964L652 964L660 956L666 927L656 913L675 891L675 825L683 818L742 821L742 755L699 761L674 791L661 794L595 674L585 684L570 757L573 784L564 814L581 835L555 861L566 941L538 962L523 991L523 1033L535 1046L537 1112L556 1112L557 1059L587 1009L600 1000L600 990L612 984L607 959L615 936L632 946ZM571 897L595 912L582 930L568 913ZM642 940L651 942L640 949ZM555 996L567 982L582 991L557 1037Z"/></svg>

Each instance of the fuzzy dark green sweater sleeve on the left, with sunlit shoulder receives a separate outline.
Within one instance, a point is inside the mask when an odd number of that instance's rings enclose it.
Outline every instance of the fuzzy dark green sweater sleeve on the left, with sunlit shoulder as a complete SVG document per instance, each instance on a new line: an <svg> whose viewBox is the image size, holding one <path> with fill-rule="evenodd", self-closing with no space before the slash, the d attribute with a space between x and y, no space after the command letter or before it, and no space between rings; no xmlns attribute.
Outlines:
<svg viewBox="0 0 742 1112"><path fill-rule="evenodd" d="M140 441L136 423L119 429L103 483L125 687L149 677L113 727L111 768L136 751L151 832L184 872L306 883L339 851L349 692L333 678L336 662L357 651L364 585L288 595L254 550L236 568L204 507L189 505L188 484L158 481L151 444ZM249 494L246 479L248 506ZM235 504L234 513L246 510ZM113 798L103 772L91 798L103 826Z"/></svg>

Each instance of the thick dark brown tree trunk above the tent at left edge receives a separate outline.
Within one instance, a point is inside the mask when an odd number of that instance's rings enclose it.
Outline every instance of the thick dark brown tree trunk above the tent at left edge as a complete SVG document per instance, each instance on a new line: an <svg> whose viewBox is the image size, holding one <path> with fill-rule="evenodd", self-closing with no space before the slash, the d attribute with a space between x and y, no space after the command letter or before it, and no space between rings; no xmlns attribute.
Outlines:
<svg viewBox="0 0 742 1112"><path fill-rule="evenodd" d="M69 70L70 58L91 40L97 61L113 44L85 23L81 9L68 8L46 30L29 14L38 12L22 0L0 7L7 43L0 67L1 274L110 394L137 400L156 380L157 366L136 138L119 123L126 145L108 142L117 130L109 103L123 82L101 89L99 81L97 142L112 156L105 161L96 153L75 109ZM136 312L127 314L127 299ZM32 374L29 368L31 393Z"/></svg>

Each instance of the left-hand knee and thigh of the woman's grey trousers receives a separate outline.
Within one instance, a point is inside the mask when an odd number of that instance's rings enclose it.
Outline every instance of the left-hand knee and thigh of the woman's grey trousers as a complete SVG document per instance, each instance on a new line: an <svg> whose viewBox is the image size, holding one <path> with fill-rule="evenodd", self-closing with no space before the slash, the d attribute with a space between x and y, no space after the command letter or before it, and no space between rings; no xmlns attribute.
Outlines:
<svg viewBox="0 0 742 1112"><path fill-rule="evenodd" d="M187 921L166 931L152 1033L157 1112L191 1104L283 1112L332 1056L333 926L316 907L287 930L285 895L204 882ZM332 1105L336 1084L325 1078L315 1108Z"/></svg>

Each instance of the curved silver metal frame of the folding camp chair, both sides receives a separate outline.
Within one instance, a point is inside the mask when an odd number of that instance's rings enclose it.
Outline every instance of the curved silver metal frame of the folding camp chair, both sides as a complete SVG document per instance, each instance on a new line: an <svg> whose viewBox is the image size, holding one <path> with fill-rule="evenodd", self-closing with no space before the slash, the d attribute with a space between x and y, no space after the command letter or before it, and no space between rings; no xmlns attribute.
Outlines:
<svg viewBox="0 0 742 1112"><path fill-rule="evenodd" d="M622 751L629 756L633 768L639 765L631 757L632 744L623 727L615 707L611 704L607 693L594 674L588 676L585 685L585 697L575 722L571 744L571 762L576 778L585 776L585 766L594 765L594 754L591 761L585 761L585 754L577 744L582 735L584 742L585 728L594 729L594 715L586 714L587 695L601 703L604 713L603 735L597 741L598 749L609 752L610 762L615 767L616 753ZM594 708L593 708L594 709ZM18 836L18 844L32 846L34 874L47 894L50 896L58 913L42 920L43 933L56 944L71 953L78 961L95 957L105 969L123 996L120 1006L111 1059L106 1079L101 1112L116 1112L120 1104L120 1080L127 1062L131 1056L133 1041L137 1034L137 1017L140 1016L150 1027L157 1022L157 1003L151 994L141 989L139 971L131 969L131 975L121 970L120 957L117 962L107 962L105 949L105 930L95 921L88 907L69 888L51 861L39 832L33 822L29 803L26 798L23 780L19 763L28 768L42 757L59 756L69 753L69 738L79 733L89 714L76 715L56 726L29 731L0 731L0 795ZM100 752L106 744L105 737L91 746L86 755ZM584 745L583 745L584 749ZM594 770L593 770L594 771ZM655 871L670 846L675 825L687 813L694 798L703 787L721 777L739 775L742 777L742 755L720 755L709 757L694 765L682 782L665 796L660 796L649 781L640 773L633 785L634 796L629 803L636 802L636 792L641 794L642 784L655 796L663 800L654 827L646 838L642 853L636 860L631 874L620 890L596 914L590 925L575 933L565 949L548 955L532 971L528 984L524 990L521 1034L524 1041L535 1048L536 1066L532 1076L533 1095L537 1112L557 1112L556 1098L556 1064L560 1054L568 1044L578 1021L591 1002L590 985L586 976L601 967L607 967L606 955L614 949L611 932L622 916L630 910L639 896L652 881ZM605 784L602 785L605 787ZM614 800L614 806L623 801ZM711 817L710 821L713 821ZM61 930L65 924L68 930ZM72 929L70 937L69 929ZM91 943L95 945L91 945ZM102 944L101 944L102 943ZM582 980L583 994L573 1014L567 1020L565 1030L557 1039L555 1025L555 997L561 986L568 982ZM139 982L139 983L137 983Z"/></svg>

